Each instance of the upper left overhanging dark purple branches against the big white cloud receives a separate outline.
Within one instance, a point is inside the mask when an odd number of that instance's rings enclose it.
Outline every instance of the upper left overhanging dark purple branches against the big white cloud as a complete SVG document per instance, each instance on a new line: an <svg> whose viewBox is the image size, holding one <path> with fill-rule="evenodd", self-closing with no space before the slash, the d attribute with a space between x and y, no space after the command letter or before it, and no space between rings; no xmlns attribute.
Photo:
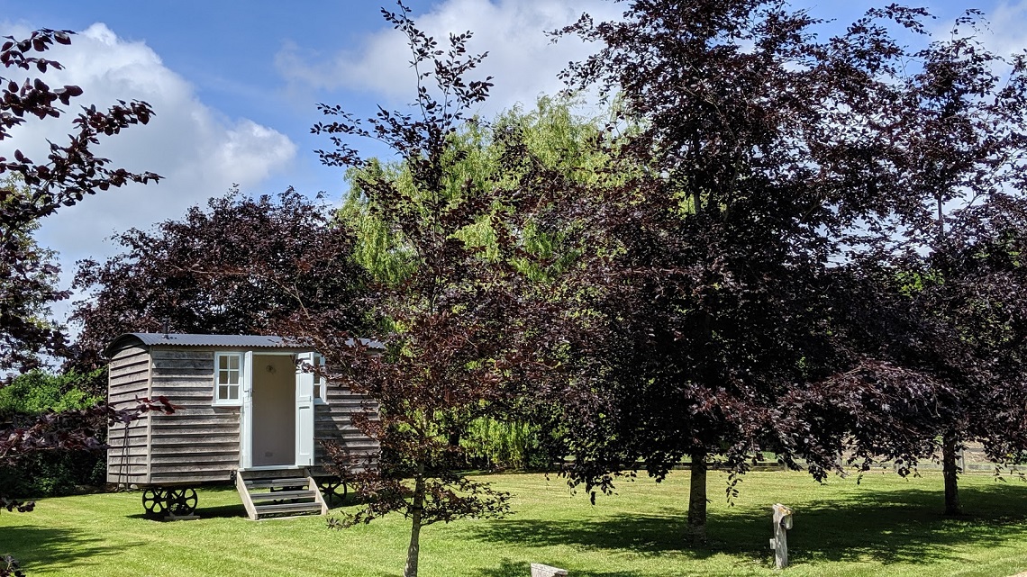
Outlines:
<svg viewBox="0 0 1027 577"><path fill-rule="evenodd" d="M61 70L60 63L37 55L56 44L70 44L70 31L38 30L29 38L7 37L0 46L0 63L6 69L35 69L45 74ZM27 76L24 82L0 76L0 142L10 139L10 130L33 117L37 121L59 118L72 99L82 94L78 86L51 88L41 77ZM67 144L49 143L44 162L29 158L21 149L13 158L0 157L0 175L15 175L24 186L0 188L0 369L30 369L40 350L60 352L65 338L52 324L37 318L42 303L67 298L56 291L52 279L56 266L51 255L40 252L26 238L39 219L62 206L71 206L97 190L125 184L158 181L152 172L129 172L112 168L110 161L92 154L101 137L117 134L132 124L146 124L153 111L143 102L125 103L101 111L83 107L73 120Z"/></svg>

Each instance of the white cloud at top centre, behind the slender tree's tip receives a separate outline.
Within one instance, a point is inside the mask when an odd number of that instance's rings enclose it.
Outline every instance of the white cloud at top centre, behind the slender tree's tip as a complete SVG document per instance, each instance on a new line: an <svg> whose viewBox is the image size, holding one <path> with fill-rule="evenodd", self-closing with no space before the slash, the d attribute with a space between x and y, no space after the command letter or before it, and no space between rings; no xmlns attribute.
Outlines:
<svg viewBox="0 0 1027 577"><path fill-rule="evenodd" d="M598 0L447 0L414 20L443 48L450 33L473 32L469 50L488 51L489 56L468 78L494 77L492 95L483 109L491 114L517 103L530 106L539 94L561 90L564 85L557 74L595 49L575 38L553 43L546 31L577 21L582 12L598 22L616 18L621 10ZM383 23L382 30L368 36L358 49L317 61L315 53L290 44L277 54L276 65L292 90L365 90L396 105L411 102L415 94L410 60L402 33Z"/></svg>

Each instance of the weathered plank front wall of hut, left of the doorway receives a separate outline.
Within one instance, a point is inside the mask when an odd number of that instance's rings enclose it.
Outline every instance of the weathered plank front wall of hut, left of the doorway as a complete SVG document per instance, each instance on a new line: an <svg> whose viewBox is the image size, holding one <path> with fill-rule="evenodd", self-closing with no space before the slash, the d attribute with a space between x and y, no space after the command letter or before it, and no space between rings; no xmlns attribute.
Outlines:
<svg viewBox="0 0 1027 577"><path fill-rule="evenodd" d="M227 482L239 468L239 408L213 407L214 352L151 350L153 395L182 407L150 419L152 484Z"/></svg>

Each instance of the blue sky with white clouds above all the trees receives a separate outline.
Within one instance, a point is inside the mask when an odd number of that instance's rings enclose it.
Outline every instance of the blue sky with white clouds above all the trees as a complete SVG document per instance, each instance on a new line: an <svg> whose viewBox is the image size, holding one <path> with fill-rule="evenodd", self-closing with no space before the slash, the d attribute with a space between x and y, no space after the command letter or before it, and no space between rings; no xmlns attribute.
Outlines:
<svg viewBox="0 0 1027 577"><path fill-rule="evenodd" d="M890 1L890 0L889 0ZM814 15L848 23L886 2L802 0ZM543 30L568 24L582 11L615 17L620 5L603 0L410 0L415 17L435 36L477 32L472 48L489 50L483 74L496 77L491 115L518 102L530 105L561 87L556 74L589 48L573 41L556 46ZM965 7L992 17L988 43L999 51L1027 45L1027 0L921 2L947 29ZM387 4L391 9L394 4ZM381 103L411 100L413 77L403 38L381 18L376 2L251 0L0 0L0 34L36 28L80 34L53 57L67 67L61 80L81 85L80 102L114 99L150 102L157 118L105 144L116 164L154 170L157 186L109 192L48 219L40 240L62 255L66 271L81 258L110 256L105 238L129 227L180 217L191 204L239 183L250 194L295 186L304 193L344 192L339 169L319 166L313 149L327 143L309 134L315 104L341 104L363 114ZM65 126L51 123L15 132L31 150ZM117 142L115 142L117 141ZM29 143L29 144L24 144Z"/></svg>

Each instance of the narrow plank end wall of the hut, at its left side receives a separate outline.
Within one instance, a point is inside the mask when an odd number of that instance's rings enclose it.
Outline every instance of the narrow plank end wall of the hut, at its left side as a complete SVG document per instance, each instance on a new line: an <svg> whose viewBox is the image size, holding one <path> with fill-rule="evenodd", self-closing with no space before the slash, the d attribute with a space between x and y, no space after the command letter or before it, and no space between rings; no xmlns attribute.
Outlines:
<svg viewBox="0 0 1027 577"><path fill-rule="evenodd" d="M128 347L111 359L108 401L128 407L138 397L150 396L150 354L143 347ZM108 429L107 483L149 483L150 416Z"/></svg>

